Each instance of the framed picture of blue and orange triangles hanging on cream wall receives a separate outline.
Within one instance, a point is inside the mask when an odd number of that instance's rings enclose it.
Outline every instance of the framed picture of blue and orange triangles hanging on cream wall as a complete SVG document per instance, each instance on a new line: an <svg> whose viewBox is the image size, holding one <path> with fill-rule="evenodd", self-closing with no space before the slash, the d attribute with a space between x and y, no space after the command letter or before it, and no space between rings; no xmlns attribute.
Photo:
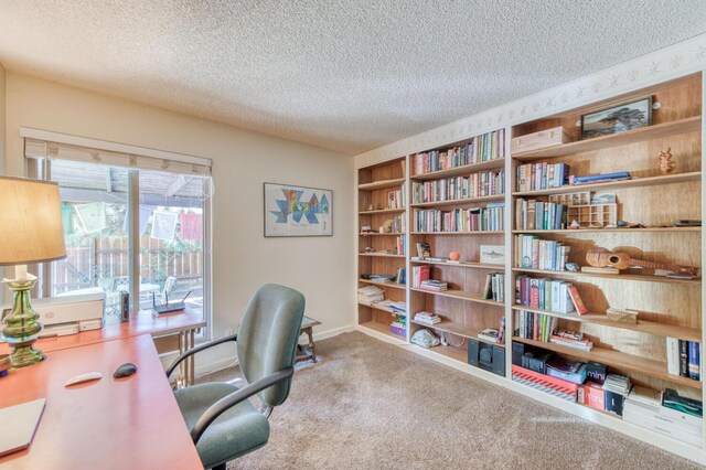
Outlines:
<svg viewBox="0 0 706 470"><path fill-rule="evenodd" d="M333 191L265 183L265 236L333 235Z"/></svg>

